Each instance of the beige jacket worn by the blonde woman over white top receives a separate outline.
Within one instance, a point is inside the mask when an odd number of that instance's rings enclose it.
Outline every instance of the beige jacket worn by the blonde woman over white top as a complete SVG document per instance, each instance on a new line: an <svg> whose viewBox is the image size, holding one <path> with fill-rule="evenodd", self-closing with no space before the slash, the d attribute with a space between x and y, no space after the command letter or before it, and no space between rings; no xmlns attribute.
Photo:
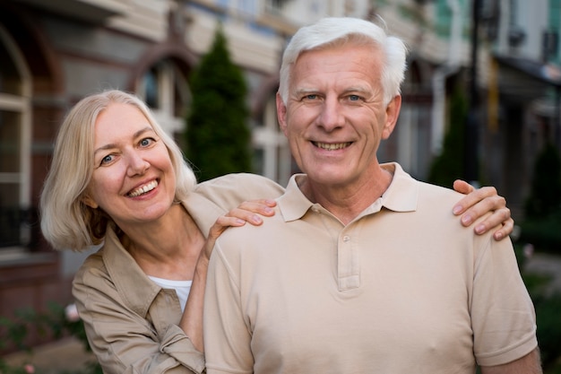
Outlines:
<svg viewBox="0 0 561 374"><path fill-rule="evenodd" d="M270 179L231 174L199 184L182 204L207 235L238 204L282 192ZM203 353L177 326L182 313L176 292L151 282L111 228L103 247L76 273L73 296L104 373L204 371Z"/></svg>

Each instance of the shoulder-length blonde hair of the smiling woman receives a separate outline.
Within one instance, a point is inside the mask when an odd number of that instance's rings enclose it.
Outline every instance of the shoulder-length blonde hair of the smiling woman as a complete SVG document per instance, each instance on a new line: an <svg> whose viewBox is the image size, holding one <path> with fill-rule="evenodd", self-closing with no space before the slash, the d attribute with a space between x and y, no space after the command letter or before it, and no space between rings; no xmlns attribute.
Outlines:
<svg viewBox="0 0 561 374"><path fill-rule="evenodd" d="M167 135L142 100L133 94L110 90L80 100L65 117L56 136L55 152L39 208L43 236L56 249L80 251L100 244L111 218L83 203L93 173L93 142L99 114L111 103L132 105L148 119L166 145L176 173L176 199L183 200L196 185L193 170L183 153Z"/></svg>

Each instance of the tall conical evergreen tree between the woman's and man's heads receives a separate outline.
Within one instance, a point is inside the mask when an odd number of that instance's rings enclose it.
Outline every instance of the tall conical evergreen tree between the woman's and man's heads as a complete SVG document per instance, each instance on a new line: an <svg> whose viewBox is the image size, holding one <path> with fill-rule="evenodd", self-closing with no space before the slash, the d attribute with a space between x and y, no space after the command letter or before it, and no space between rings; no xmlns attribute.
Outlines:
<svg viewBox="0 0 561 374"><path fill-rule="evenodd" d="M230 60L221 27L211 50L194 70L191 89L185 152L198 169L199 179L251 171L246 82Z"/></svg>

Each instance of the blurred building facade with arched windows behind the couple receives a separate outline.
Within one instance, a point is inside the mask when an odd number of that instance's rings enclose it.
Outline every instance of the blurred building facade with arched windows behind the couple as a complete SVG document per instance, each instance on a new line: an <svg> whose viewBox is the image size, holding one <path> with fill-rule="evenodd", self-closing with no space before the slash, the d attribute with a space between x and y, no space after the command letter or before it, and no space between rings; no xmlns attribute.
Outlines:
<svg viewBox="0 0 561 374"><path fill-rule="evenodd" d="M481 179L516 214L544 142L559 143L561 0L480 3L475 82ZM470 0L0 0L0 315L72 300L87 254L54 252L38 203L66 111L108 88L134 91L181 141L189 74L219 22L249 86L255 172L285 184L295 170L274 94L298 27L326 16L375 19L410 47L403 106L381 161L427 178L449 116L450 82L469 76ZM188 126L188 125L187 125ZM462 177L462 176L460 176ZM516 215L515 215L516 218ZM94 250L94 248L92 248Z"/></svg>

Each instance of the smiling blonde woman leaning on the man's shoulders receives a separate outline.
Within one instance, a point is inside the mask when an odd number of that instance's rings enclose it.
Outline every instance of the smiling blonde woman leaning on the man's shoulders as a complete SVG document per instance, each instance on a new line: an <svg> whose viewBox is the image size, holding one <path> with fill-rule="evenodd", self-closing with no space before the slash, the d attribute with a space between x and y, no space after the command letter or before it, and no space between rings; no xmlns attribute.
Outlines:
<svg viewBox="0 0 561 374"><path fill-rule="evenodd" d="M258 214L271 215L282 191L252 174L197 185L177 144L129 93L104 91L71 109L41 195L41 229L57 249L102 244L75 275L73 296L104 372L203 372L213 240L228 226L261 224ZM504 221L497 237L512 230L493 187L472 191L457 206L455 213L472 206L469 222L496 210L485 227Z"/></svg>

